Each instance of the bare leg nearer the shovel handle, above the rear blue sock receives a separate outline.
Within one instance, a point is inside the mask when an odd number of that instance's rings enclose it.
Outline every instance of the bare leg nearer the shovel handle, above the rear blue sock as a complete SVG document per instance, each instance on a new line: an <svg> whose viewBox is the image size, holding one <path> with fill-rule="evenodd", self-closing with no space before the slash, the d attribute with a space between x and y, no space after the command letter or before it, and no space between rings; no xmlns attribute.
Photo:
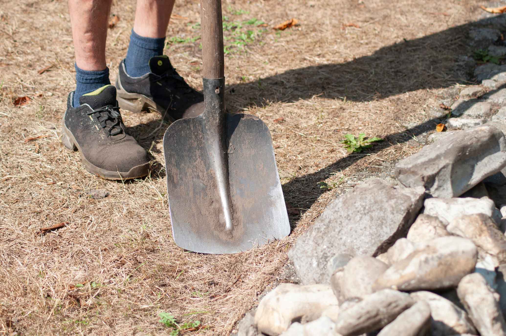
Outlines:
<svg viewBox="0 0 506 336"><path fill-rule="evenodd" d="M144 37L165 37L175 0L137 0L134 31Z"/></svg>

